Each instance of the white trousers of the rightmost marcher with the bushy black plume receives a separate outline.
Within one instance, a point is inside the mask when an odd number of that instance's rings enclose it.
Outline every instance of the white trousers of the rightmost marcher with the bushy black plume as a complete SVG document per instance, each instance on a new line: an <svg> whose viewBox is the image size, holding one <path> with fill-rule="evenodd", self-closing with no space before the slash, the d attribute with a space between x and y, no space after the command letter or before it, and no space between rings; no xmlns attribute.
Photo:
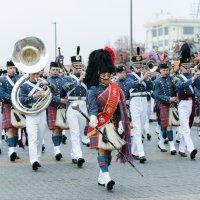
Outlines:
<svg viewBox="0 0 200 200"><path fill-rule="evenodd" d="M194 150L194 144L190 135L189 118L192 112L192 100L181 100L178 104L179 120L180 120L180 144L179 151L185 152L186 148L188 152Z"/></svg>

